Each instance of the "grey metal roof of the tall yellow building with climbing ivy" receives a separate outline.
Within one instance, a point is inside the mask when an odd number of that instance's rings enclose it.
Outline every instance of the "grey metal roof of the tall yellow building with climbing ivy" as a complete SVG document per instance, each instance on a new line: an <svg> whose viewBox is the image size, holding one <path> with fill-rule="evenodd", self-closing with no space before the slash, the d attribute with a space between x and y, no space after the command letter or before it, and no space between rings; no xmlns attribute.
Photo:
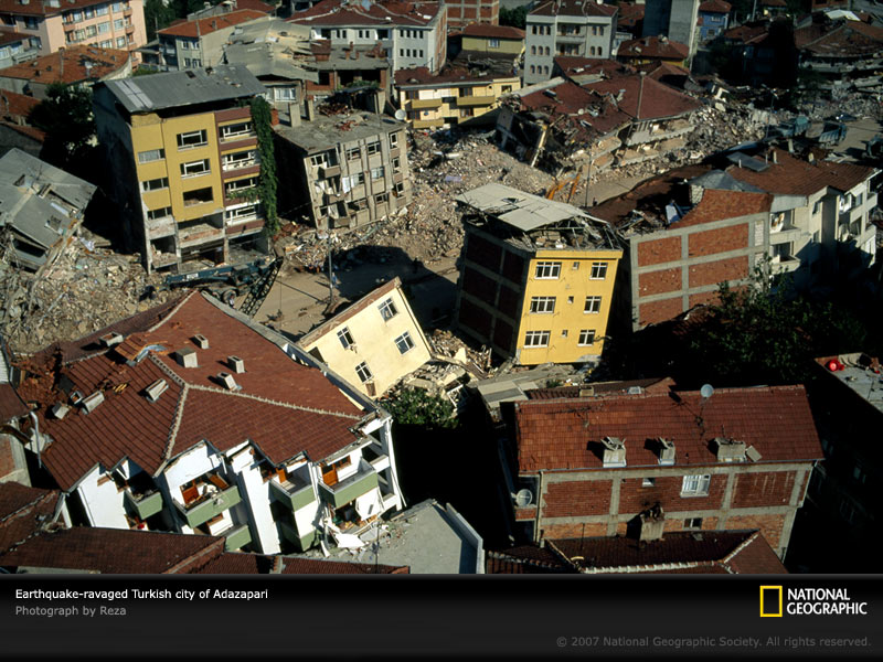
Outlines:
<svg viewBox="0 0 883 662"><path fill-rule="evenodd" d="M242 65L164 72L104 83L129 113L152 113L194 104L233 100L266 93Z"/></svg>

